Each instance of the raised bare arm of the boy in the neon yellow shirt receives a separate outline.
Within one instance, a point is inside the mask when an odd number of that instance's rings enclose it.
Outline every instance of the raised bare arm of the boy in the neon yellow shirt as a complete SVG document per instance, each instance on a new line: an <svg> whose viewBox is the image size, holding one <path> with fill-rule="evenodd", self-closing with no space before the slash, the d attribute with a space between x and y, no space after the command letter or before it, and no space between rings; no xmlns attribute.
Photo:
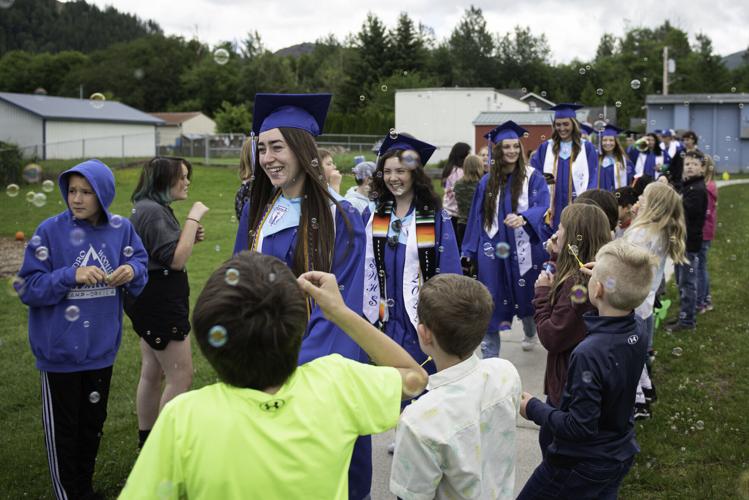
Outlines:
<svg viewBox="0 0 749 500"><path fill-rule="evenodd" d="M334 275L320 271L302 274L297 282L312 297L325 317L345 331L380 366L392 366L401 373L403 399L418 396L426 387L426 371L390 337L346 307Z"/></svg>

